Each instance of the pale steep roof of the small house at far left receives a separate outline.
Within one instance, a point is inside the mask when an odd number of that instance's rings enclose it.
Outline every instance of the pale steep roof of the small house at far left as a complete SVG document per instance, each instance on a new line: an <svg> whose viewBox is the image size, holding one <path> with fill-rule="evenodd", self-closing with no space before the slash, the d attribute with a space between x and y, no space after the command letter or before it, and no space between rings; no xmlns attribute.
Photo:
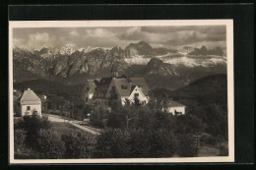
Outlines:
<svg viewBox="0 0 256 170"><path fill-rule="evenodd" d="M41 99L29 88L24 91L21 104L41 104Z"/></svg>

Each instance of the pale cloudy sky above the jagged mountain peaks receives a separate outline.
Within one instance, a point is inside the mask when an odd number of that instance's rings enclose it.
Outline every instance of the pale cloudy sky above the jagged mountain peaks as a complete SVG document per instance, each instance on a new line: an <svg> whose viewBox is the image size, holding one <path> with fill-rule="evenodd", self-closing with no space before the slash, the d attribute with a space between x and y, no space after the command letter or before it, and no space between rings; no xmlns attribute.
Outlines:
<svg viewBox="0 0 256 170"><path fill-rule="evenodd" d="M113 28L14 28L13 44L30 49L81 47L125 48L146 41L153 47L179 49L183 46L207 48L226 46L225 26L167 26Z"/></svg>

